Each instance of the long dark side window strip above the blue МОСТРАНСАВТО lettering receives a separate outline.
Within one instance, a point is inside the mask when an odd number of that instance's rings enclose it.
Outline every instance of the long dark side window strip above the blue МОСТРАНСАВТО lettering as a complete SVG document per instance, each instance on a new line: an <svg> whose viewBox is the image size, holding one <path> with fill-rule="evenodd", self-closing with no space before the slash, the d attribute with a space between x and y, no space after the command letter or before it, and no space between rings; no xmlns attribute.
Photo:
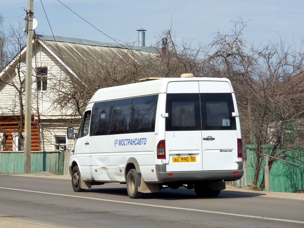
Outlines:
<svg viewBox="0 0 304 228"><path fill-rule="evenodd" d="M90 136L154 131L157 100L150 95L95 103Z"/></svg>

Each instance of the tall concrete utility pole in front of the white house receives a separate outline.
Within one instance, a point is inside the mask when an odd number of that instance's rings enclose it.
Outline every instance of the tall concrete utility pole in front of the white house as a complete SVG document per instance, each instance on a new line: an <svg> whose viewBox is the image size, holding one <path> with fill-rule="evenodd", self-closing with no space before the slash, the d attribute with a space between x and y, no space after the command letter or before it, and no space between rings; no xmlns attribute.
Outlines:
<svg viewBox="0 0 304 228"><path fill-rule="evenodd" d="M32 52L33 52L33 8L34 0L27 0L26 11L26 75L24 118L24 173L31 172L32 136Z"/></svg>

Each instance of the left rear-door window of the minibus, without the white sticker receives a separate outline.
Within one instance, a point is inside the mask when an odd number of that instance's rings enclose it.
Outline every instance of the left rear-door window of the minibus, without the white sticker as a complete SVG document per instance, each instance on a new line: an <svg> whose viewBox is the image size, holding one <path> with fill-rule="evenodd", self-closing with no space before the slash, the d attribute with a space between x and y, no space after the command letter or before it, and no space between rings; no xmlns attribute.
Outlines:
<svg viewBox="0 0 304 228"><path fill-rule="evenodd" d="M166 131L201 130L198 93L168 93L166 112Z"/></svg>

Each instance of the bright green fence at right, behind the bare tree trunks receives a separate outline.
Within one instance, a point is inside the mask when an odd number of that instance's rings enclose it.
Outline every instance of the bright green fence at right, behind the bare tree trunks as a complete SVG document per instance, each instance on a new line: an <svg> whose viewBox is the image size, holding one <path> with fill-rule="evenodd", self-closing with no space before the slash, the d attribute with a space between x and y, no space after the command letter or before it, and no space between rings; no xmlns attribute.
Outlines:
<svg viewBox="0 0 304 228"><path fill-rule="evenodd" d="M267 151L271 150L271 146L264 146L263 154L268 154ZM284 148L281 148L284 149ZM255 150L256 147L252 145L246 146L247 152L247 182L252 184L254 177L254 164L255 164ZM285 161L289 161L295 164L304 164L304 154L302 150L292 150L287 152L289 157L285 157ZM294 159L296 157L297 159ZM271 192L293 192L295 190L304 189L304 168L287 163L285 161L276 160L269 172L270 178L270 191ZM262 181L262 175L264 173L264 166L266 161L262 161L262 170L260 173L260 179L258 186Z"/></svg>

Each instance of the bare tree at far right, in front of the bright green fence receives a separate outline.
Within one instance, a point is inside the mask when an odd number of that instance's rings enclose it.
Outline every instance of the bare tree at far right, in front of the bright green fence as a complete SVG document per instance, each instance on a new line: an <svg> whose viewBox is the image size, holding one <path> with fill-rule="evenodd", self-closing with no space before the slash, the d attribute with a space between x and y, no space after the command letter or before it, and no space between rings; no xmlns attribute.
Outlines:
<svg viewBox="0 0 304 228"><path fill-rule="evenodd" d="M302 148L304 56L291 50L282 39L278 43L252 47L252 52L257 60L251 76L256 79L256 86L250 90L254 98L250 100L252 129L257 144L253 184L257 185L264 159L261 154L272 156L268 162L270 170L276 161L273 157L288 157L288 151ZM271 147L265 150L263 145ZM264 186L263 174L259 187L263 189Z"/></svg>

